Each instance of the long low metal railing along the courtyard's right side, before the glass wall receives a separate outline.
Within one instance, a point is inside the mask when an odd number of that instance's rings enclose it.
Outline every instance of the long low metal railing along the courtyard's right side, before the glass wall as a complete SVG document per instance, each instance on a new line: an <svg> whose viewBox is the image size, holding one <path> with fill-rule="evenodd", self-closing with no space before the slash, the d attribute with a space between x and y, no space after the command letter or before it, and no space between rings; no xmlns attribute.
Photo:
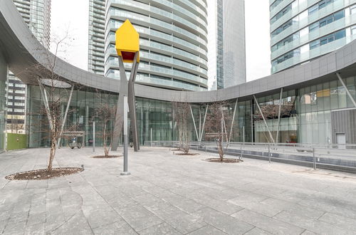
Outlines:
<svg viewBox="0 0 356 235"><path fill-rule="evenodd" d="M152 147L179 147L177 141L145 142ZM298 164L313 169L330 169L356 174L356 145L313 145L300 143L230 142L225 155L268 162ZM190 142L192 150L218 153L216 142Z"/></svg>

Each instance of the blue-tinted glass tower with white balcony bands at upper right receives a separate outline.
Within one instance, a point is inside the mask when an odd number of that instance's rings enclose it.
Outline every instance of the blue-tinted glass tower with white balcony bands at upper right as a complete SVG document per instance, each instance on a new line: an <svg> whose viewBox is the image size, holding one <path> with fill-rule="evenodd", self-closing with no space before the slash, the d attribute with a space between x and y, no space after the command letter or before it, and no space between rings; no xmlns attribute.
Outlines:
<svg viewBox="0 0 356 235"><path fill-rule="evenodd" d="M356 2L270 1L272 73L307 63L356 37Z"/></svg>

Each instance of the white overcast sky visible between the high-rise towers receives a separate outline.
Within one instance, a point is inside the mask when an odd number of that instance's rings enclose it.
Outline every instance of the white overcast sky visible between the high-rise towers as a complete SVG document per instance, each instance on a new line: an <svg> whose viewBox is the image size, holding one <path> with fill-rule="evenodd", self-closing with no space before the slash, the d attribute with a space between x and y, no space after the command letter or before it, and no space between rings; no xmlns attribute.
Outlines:
<svg viewBox="0 0 356 235"><path fill-rule="evenodd" d="M212 6L215 0L207 1ZM245 1L248 81L271 73L268 4L268 0ZM84 70L88 69L88 11L88 0L52 0L52 36L61 38L68 31L70 38L74 39L67 46L66 53L58 53L58 56Z"/></svg>

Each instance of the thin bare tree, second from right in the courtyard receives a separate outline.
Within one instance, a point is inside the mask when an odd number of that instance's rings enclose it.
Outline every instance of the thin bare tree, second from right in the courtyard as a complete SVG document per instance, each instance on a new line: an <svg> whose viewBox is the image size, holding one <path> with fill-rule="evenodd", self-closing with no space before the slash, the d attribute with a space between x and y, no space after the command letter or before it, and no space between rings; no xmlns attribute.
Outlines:
<svg viewBox="0 0 356 235"><path fill-rule="evenodd" d="M187 102L172 102L174 120L177 123L179 134L179 149L182 149L185 155L189 154L189 127L188 120L190 116L190 104Z"/></svg>

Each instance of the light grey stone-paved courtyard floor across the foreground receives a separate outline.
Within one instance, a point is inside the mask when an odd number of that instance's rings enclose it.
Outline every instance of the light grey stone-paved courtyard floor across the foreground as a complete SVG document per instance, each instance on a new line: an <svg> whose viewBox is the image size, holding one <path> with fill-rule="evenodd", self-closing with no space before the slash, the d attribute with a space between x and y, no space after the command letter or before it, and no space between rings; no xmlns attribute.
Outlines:
<svg viewBox="0 0 356 235"><path fill-rule="evenodd" d="M63 148L56 167L85 171L4 179L46 167L48 151L0 155L0 234L356 234L356 175L142 147L130 152L130 176L120 176L122 158Z"/></svg>

